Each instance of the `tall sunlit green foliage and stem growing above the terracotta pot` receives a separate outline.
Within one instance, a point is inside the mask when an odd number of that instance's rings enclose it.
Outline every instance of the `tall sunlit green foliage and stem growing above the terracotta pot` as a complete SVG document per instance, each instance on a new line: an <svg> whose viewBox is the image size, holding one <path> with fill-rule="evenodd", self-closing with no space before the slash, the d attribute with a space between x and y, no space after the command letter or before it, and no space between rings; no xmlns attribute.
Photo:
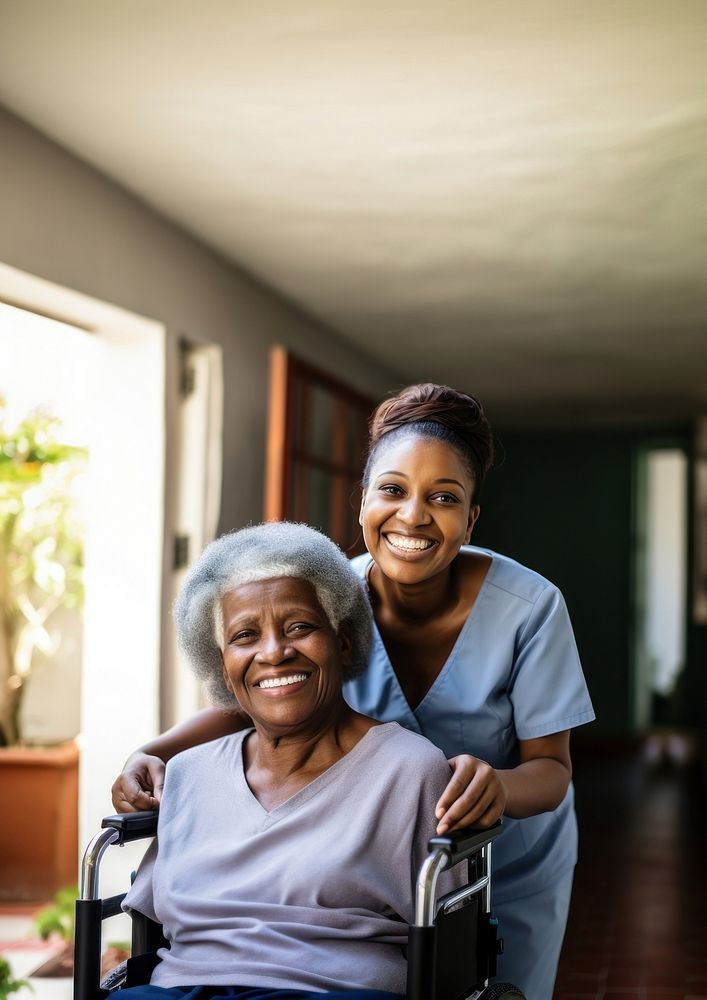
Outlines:
<svg viewBox="0 0 707 1000"><path fill-rule="evenodd" d="M74 482L86 451L62 440L41 411L11 424L0 397L0 746L22 743L20 706L35 649L52 656L47 627L83 602L83 525Z"/></svg>

